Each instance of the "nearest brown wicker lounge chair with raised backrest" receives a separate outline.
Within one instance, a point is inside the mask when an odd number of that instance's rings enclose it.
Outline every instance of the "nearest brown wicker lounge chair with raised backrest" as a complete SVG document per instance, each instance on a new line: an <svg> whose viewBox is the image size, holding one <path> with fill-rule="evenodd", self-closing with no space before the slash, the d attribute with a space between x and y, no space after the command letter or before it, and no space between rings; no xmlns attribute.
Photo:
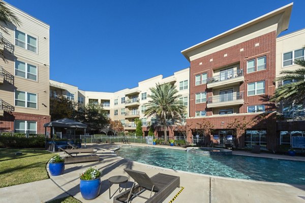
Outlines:
<svg viewBox="0 0 305 203"><path fill-rule="evenodd" d="M132 188L115 196L113 202L129 202L135 197L147 199L146 203L163 202L177 187L180 187L180 177L167 174L157 174L151 178L146 173L125 168L124 171L134 179ZM137 185L136 185L137 183ZM150 191L149 198L141 196L145 190ZM153 196L151 194L155 192Z"/></svg>

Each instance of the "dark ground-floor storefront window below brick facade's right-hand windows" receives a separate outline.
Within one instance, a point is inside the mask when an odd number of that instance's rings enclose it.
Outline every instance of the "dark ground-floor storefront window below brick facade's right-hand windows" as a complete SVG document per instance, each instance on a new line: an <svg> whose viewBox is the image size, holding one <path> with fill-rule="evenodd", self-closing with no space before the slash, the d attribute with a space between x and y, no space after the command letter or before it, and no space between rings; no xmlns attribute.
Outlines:
<svg viewBox="0 0 305 203"><path fill-rule="evenodd" d="M252 148L253 145L260 145L261 148L267 148L266 130L246 130L245 147Z"/></svg>

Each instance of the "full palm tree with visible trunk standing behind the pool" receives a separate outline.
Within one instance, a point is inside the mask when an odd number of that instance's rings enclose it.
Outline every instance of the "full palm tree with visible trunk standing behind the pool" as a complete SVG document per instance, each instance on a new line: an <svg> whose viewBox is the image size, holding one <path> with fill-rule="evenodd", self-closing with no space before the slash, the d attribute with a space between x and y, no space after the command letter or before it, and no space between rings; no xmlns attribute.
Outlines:
<svg viewBox="0 0 305 203"><path fill-rule="evenodd" d="M179 101L178 90L175 86L166 84L157 84L156 87L149 88L151 95L148 95L151 100L146 104L147 109L144 112L145 116L157 115L162 120L164 130L164 142L167 142L167 124L166 116L172 118L180 117L186 113L186 107Z"/></svg>

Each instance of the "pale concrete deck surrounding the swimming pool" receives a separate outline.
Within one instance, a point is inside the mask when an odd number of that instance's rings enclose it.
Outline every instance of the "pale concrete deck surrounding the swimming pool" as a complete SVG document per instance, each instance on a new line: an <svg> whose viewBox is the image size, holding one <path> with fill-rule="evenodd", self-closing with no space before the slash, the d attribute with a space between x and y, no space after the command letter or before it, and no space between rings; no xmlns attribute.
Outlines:
<svg viewBox="0 0 305 203"><path fill-rule="evenodd" d="M139 146L147 146L144 144L133 144ZM5 191L6 197L4 199L0 197L0 202L41 202L42 200L51 200L70 194L82 202L113 202L113 199L109 199L108 190L108 178L117 175L128 175L123 171L125 167L131 167L134 170L143 171L148 176L153 176L157 173L171 174L180 177L180 186L184 187L184 190L176 197L173 202L300 202L305 203L305 183L304 185L290 185L283 183L270 183L261 181L249 181L240 179L230 179L222 177L212 177L206 175L199 175L188 172L174 171L168 168L162 168L158 166L151 166L142 164L134 161L128 161L120 158L112 153L112 150L117 148L118 144L102 144L102 145L88 145L87 147L95 147L100 156L100 162L88 162L88 163L77 163L77 164L66 164L65 173L61 176L50 177L49 182L45 182L44 188L49 189L50 194L45 194L49 199L45 197L38 201L38 198L23 198L23 201L19 201L20 196L23 196L22 192L17 192L18 187L24 187L22 185L16 185L15 190L12 187L0 188L0 193L3 196ZM123 146L123 144L121 144ZM168 146L158 146L168 147ZM179 147L171 147L181 149ZM260 157L271 157L271 158L289 158L293 160L305 161L305 157L289 157L283 155L273 154L251 154L249 152L234 151L234 154L239 155L254 155ZM272 155L272 156L271 156ZM85 200L82 198L79 191L79 174L82 173L87 167L94 166L102 171L102 188L100 195L93 200ZM53 182L52 182L53 181ZM129 178L127 187L132 186L132 179ZM32 185L36 185L37 182L29 183L28 188ZM57 185L57 186L56 186ZM54 190L55 186L55 190ZM111 186L111 192L113 193L117 189L117 185ZM58 189L62 189L60 192ZM164 202L169 202L180 190L176 188ZM46 192L45 189L31 190L32 196L35 196L35 192L38 192L41 196ZM42 193L42 194L41 194ZM112 195L111 193L111 195ZM116 193L118 194L118 192ZM115 194L115 195L116 195ZM38 195L38 194L37 194ZM115 196L114 195L114 196ZM17 198L17 196L19 198ZM29 195L28 195L29 196ZM4 201L6 200L6 201ZM136 198L133 202L144 202L144 199Z"/></svg>

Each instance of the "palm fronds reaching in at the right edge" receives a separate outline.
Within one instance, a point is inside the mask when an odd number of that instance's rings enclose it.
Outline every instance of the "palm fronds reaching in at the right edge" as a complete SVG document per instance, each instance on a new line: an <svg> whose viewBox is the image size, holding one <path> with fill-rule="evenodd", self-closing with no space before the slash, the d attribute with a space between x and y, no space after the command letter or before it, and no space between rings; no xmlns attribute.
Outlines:
<svg viewBox="0 0 305 203"><path fill-rule="evenodd" d="M270 99L272 102L286 101L294 104L305 103L305 61L295 60L295 64L302 67L294 71L282 71L285 74L277 79L277 81L297 81L285 84L276 89L275 95Z"/></svg>

